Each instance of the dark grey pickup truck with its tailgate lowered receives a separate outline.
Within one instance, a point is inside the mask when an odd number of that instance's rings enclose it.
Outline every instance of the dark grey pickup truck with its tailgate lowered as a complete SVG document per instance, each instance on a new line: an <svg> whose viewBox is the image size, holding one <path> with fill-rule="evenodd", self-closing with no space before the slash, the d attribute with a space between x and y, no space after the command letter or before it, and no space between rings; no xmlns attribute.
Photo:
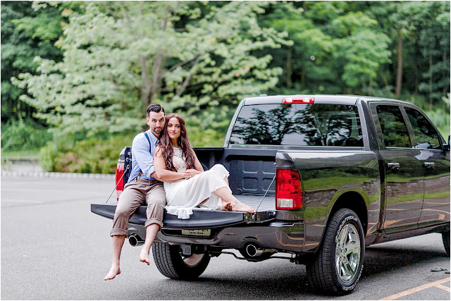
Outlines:
<svg viewBox="0 0 451 301"><path fill-rule="evenodd" d="M445 143L408 102L250 97L240 102L223 147L195 152L205 170L223 164L233 194L257 212L193 209L187 220L165 213L152 247L164 276L197 278L220 254L251 262L285 258L305 264L321 293L342 295L359 281L365 246L442 233L450 255L450 138ZM125 147L118 195L129 171ZM91 208L113 219L116 204ZM132 245L144 240L145 211L130 219Z"/></svg>

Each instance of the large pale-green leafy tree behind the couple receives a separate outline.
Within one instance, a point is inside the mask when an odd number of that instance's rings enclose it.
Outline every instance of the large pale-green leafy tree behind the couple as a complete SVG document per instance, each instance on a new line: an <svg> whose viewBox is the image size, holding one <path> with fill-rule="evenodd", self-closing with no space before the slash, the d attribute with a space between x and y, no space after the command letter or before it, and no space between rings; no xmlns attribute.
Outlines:
<svg viewBox="0 0 451 301"><path fill-rule="evenodd" d="M264 2L83 5L82 12L64 11L69 21L56 42L63 61L37 57L39 75L13 80L29 92L20 99L66 133L140 129L144 108L154 102L211 127L216 118L209 112L228 117L230 104L275 87L282 72L268 68L270 54L252 55L287 43L283 33L257 23Z"/></svg>

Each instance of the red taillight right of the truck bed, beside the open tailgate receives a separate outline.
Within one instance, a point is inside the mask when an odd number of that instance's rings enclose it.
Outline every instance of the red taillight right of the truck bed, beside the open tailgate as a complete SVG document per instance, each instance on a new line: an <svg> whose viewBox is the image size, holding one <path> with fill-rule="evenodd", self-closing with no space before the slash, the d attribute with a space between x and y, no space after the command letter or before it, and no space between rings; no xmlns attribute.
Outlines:
<svg viewBox="0 0 451 301"><path fill-rule="evenodd" d="M297 171L291 169L276 170L276 209L302 209L301 178Z"/></svg>

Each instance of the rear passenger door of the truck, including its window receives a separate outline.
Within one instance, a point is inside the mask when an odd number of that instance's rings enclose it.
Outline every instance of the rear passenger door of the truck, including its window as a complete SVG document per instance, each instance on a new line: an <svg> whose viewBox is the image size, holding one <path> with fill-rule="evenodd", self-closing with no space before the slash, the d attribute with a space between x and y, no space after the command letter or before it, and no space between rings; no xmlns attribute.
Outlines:
<svg viewBox="0 0 451 301"><path fill-rule="evenodd" d="M424 168L419 149L412 148L400 106L372 103L385 180L383 230L386 233L416 228L424 193Z"/></svg>

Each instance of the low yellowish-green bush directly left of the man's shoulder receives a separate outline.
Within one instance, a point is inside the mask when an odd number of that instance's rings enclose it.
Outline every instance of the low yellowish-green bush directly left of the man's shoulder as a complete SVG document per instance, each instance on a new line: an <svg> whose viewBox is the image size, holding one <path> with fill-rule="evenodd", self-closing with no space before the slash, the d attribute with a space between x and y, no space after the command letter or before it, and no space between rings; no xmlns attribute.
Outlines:
<svg viewBox="0 0 451 301"><path fill-rule="evenodd" d="M39 165L45 171L63 173L115 173L123 147L131 146L134 135L103 135L75 141L58 135L41 149Z"/></svg>

